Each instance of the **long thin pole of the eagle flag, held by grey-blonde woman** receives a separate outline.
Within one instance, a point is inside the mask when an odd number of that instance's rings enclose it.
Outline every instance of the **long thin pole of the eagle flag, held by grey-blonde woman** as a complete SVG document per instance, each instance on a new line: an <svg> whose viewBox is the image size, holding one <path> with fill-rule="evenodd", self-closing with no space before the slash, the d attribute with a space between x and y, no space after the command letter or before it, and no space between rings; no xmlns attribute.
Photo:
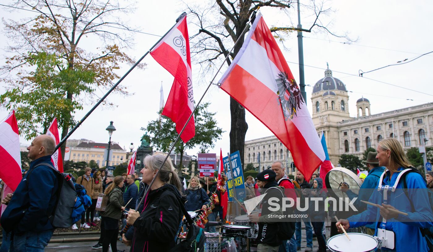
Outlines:
<svg viewBox="0 0 433 252"><path fill-rule="evenodd" d="M251 17L249 18L247 24L248 24L249 22L251 22L252 17L255 16L255 13L256 13L256 12L252 13L252 15L251 15ZM184 13L182 13L182 15L183 15L183 14L184 14ZM182 16L182 15L181 15L181 16ZM178 19L179 19L179 18L178 18ZM232 49L230 49L229 53L227 54L226 58L224 59L223 63L221 64L220 68L218 68L218 71L216 71L215 76L214 76L213 79L210 81L209 85L207 85L206 90L204 90L203 95L200 97L200 100L197 102L197 105L194 107L193 111L191 112L191 115L188 117L188 120L185 122L184 127L183 127L182 130L179 132L178 137L176 137L176 140L174 140L173 144L172 144L171 147L170 147L170 150L168 150L168 154L167 154L167 156L165 156L164 162L162 162L162 164L161 164L161 166L159 167L158 171L156 172L155 176L153 176L152 181L150 182L149 186L148 186L148 187L146 188L146 190L144 191L143 197L141 198L140 202L137 204L137 207L136 207L136 208L138 208L138 207L142 204L143 200L146 198L146 195L149 193L149 190L150 190L150 188L152 187L153 183L155 182L155 179L158 177L158 173L161 171L161 168L162 168L162 166L164 165L165 161L167 161L168 156L170 156L170 153L171 153L171 151L174 149L174 146L178 143L179 139L181 138L181 134L184 132L185 128L187 127L187 125L188 125L188 123L189 123L189 121L190 121L191 118L193 117L194 112L195 112L195 111L197 110L197 108L198 108L198 105L200 105L200 102L203 100L204 95L206 95L207 90L209 90L210 86L213 84L213 81L215 80L216 75L220 72L221 68L223 68L224 62L226 62L227 58L230 56L230 53L233 51L233 49L235 48L236 44L239 42L240 38L242 38L242 36L243 36L243 34L245 33L245 31L246 31L247 28L248 28L248 26L245 26L245 29L243 29L241 35L240 35L239 38L236 40L236 42L235 42L235 44L233 45ZM162 38L161 38L161 39L162 39ZM161 39L160 39L160 40L161 40ZM157 43L157 44L158 44L158 43ZM152 48L153 48L153 47L152 47ZM229 155L229 156L230 156L230 155ZM135 211L138 212L138 210L135 210ZM123 228L122 232L123 232L123 233L126 233L126 231L129 230L129 227L130 227L130 226L131 226L131 225L126 224L126 226Z"/></svg>

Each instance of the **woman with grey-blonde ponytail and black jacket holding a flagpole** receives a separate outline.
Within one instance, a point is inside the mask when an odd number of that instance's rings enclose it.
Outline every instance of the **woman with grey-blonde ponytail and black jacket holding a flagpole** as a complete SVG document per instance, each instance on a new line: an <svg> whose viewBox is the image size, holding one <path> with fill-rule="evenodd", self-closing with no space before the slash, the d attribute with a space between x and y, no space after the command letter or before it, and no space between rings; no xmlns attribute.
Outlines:
<svg viewBox="0 0 433 252"><path fill-rule="evenodd" d="M164 159L164 153L145 157L142 182L150 184ZM144 204L138 207L139 212L128 212L126 222L135 229L132 252L168 251L175 246L174 237L183 217L180 204L184 204L184 200L180 189L181 181L168 157L145 196Z"/></svg>

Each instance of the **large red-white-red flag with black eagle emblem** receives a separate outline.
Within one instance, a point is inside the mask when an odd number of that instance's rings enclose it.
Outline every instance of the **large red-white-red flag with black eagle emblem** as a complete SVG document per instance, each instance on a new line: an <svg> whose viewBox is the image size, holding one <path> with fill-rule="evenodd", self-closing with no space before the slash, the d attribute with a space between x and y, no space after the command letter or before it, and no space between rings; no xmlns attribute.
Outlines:
<svg viewBox="0 0 433 252"><path fill-rule="evenodd" d="M325 153L301 91L262 15L256 16L219 83L290 150L308 181Z"/></svg>

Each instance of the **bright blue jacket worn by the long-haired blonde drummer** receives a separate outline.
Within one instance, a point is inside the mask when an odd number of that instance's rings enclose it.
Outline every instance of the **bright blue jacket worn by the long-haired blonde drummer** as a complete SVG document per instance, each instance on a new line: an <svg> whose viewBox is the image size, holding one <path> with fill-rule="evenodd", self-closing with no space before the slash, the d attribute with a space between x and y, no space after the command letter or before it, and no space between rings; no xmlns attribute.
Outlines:
<svg viewBox="0 0 433 252"><path fill-rule="evenodd" d="M404 168L400 167L398 171ZM389 173L384 178L382 185L392 187L397 180L400 172L394 172L391 178ZM430 207L429 196L427 194L427 185L420 174L411 172L406 175L407 188L415 188L417 190L408 191L409 198L401 190L402 180L399 180L397 190L394 193L388 191L388 202L396 209L406 212L408 215L399 214L397 218L387 220L385 229L395 233L395 249L397 252L417 251L427 252L427 242L422 236L421 228L429 228L433 226L433 214ZM426 190L420 190L425 188ZM375 190L372 196L368 199L369 202L381 204L383 201L383 190ZM427 202L427 203L426 203ZM412 209L414 206L414 211ZM414 211L414 212L412 212ZM377 235L377 226L382 221L380 210L378 207L368 205L367 210L361 214L354 215L348 218L350 227L365 226L366 224L375 224L375 235ZM375 221L372 221L375 220ZM379 226L380 227L380 226ZM382 248L382 251L387 249Z"/></svg>

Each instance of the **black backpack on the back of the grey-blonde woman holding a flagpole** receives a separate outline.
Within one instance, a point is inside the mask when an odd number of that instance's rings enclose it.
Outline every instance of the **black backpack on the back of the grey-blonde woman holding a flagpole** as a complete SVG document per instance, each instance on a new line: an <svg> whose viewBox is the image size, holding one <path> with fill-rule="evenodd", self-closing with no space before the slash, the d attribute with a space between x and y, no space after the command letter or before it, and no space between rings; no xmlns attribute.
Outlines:
<svg viewBox="0 0 433 252"><path fill-rule="evenodd" d="M182 209L182 213L185 215L187 220L188 233L187 238L179 242L176 246L169 250L169 252L204 252L204 246L206 245L206 235L204 230L193 224L188 211L185 209L184 203L178 199L179 205Z"/></svg>

